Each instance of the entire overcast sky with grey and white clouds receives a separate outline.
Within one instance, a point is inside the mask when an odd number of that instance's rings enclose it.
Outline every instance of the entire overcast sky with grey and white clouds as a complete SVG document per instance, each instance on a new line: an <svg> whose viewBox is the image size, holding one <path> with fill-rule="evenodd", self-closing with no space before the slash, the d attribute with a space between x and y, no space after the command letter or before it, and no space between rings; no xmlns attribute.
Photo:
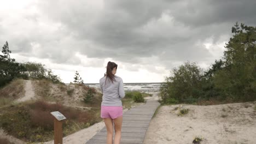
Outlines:
<svg viewBox="0 0 256 144"><path fill-rule="evenodd" d="M235 22L256 25L255 0L0 0L0 45L63 82L98 83L108 61L124 82L163 82L186 61L207 69ZM1 46L2 47L2 46Z"/></svg>

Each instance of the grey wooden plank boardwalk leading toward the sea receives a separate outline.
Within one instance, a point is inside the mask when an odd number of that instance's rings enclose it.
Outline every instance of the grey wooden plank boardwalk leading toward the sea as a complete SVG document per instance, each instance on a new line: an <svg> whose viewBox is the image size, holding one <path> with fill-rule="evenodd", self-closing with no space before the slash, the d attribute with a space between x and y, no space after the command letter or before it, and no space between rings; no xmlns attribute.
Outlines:
<svg viewBox="0 0 256 144"><path fill-rule="evenodd" d="M146 104L133 107L132 109L124 112L123 125L121 133L121 142L139 144L143 143L144 137L147 133L149 122L154 115L156 108L160 104L157 100L149 99ZM114 135L113 135L114 137ZM94 137L92 137L88 144L106 144L107 129L104 127Z"/></svg>

